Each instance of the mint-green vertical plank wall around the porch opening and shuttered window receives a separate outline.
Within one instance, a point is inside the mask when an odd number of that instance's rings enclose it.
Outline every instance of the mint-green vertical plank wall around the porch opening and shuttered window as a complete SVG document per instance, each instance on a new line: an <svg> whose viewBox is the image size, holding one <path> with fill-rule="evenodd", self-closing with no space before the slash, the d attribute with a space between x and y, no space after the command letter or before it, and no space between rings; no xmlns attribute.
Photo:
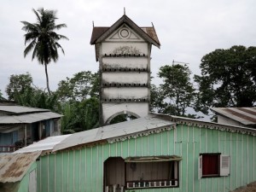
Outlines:
<svg viewBox="0 0 256 192"><path fill-rule="evenodd" d="M176 129L123 142L96 145L41 157L38 192L102 192L108 157L180 155L179 188L131 189L141 192L228 192L255 180L255 137L229 131L177 125ZM200 153L230 155L230 176L198 179Z"/></svg>

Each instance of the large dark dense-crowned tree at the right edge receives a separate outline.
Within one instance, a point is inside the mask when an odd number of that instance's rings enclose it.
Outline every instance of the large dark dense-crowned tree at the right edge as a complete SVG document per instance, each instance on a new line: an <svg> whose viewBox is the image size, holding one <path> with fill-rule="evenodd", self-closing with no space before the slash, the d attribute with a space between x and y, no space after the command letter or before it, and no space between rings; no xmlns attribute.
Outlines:
<svg viewBox="0 0 256 192"><path fill-rule="evenodd" d="M252 107L256 102L256 47L216 49L201 59L201 76L195 75L199 94L195 110Z"/></svg>

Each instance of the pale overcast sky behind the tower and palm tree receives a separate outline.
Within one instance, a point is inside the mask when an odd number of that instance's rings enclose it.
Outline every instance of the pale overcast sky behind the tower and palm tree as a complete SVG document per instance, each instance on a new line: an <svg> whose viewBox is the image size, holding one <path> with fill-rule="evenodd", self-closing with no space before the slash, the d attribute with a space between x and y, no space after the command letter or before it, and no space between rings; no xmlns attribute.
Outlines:
<svg viewBox="0 0 256 192"><path fill-rule="evenodd" d="M66 55L49 64L49 86L57 88L61 79L80 71L96 72L95 48L90 45L92 21L95 26L111 26L124 14L138 26L154 23L160 49L152 50L154 76L172 61L189 63L193 74L200 74L201 57L214 49L232 45L256 45L255 0L2 0L0 6L0 90L4 93L11 74L29 72L38 87L45 88L44 67L32 55L23 56L24 31L20 20L35 22L32 9L57 10L58 33ZM155 84L160 81L154 79Z"/></svg>

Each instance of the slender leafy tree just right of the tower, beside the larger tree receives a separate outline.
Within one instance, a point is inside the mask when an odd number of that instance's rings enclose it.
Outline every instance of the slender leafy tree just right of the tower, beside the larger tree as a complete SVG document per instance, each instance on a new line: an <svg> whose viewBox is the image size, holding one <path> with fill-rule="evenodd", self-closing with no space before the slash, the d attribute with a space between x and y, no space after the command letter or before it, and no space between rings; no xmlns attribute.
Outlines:
<svg viewBox="0 0 256 192"><path fill-rule="evenodd" d="M158 112L186 116L187 108L192 107L195 99L195 89L190 82L191 72L186 65L160 67L158 76L163 84L157 90L160 97Z"/></svg>

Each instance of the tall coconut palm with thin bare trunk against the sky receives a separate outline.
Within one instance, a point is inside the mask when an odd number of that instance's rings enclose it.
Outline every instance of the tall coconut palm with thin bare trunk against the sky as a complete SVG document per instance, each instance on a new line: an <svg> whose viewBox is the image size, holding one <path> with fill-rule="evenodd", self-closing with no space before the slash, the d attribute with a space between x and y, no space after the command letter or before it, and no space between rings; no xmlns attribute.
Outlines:
<svg viewBox="0 0 256 192"><path fill-rule="evenodd" d="M47 90L49 90L49 78L47 73L47 65L50 61L57 61L59 58L58 48L61 49L64 54L64 49L62 49L61 44L58 44L58 40L67 37L57 34L55 30L59 30L62 27L67 27L66 24L55 24L55 20L58 19L56 11L54 10L44 10L44 8L32 9L34 14L37 16L36 23L29 23L27 21L21 21L24 24L22 30L26 32L25 36L25 45L26 49L24 50L24 57L32 51L32 60L37 57L38 62L44 65L45 75L46 75L46 85Z"/></svg>

